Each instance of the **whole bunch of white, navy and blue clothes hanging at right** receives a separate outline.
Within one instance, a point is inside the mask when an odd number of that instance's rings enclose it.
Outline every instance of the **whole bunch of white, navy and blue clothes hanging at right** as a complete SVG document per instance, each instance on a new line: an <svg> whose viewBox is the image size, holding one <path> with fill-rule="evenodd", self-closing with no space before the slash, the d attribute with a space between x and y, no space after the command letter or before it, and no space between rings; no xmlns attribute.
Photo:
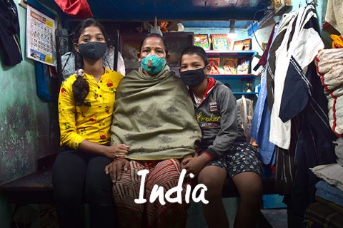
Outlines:
<svg viewBox="0 0 343 228"><path fill-rule="evenodd" d="M285 195L290 211L300 216L314 201L318 181L309 168L335 162L332 141L337 137L329 128L327 100L313 63L321 48L324 45L312 4L299 8L298 13L284 14L269 48L252 123L254 138L261 138L260 133L270 126L269 143L275 144L275 152L269 159L276 155L275 189ZM267 103L269 124L263 122L263 118L268 120L263 109ZM264 159L264 164L267 161Z"/></svg>

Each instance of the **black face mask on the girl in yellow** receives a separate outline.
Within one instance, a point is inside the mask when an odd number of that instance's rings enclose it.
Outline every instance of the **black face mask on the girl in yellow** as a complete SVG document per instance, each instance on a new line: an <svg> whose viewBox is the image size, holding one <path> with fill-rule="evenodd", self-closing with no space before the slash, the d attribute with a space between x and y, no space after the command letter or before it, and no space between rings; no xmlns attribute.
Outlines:
<svg viewBox="0 0 343 228"><path fill-rule="evenodd" d="M89 42L79 44L79 51L82 57L90 59L99 59L106 52L106 43Z"/></svg>

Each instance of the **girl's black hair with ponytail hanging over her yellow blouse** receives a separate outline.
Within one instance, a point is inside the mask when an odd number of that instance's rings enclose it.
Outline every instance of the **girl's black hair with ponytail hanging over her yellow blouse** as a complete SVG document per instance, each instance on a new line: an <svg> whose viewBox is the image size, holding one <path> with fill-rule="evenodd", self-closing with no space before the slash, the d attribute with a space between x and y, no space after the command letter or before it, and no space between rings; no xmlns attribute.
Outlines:
<svg viewBox="0 0 343 228"><path fill-rule="evenodd" d="M89 18L84 19L81 21L74 29L74 43L79 43L79 37L81 36L82 31L84 31L85 28L88 28L90 26L96 26L100 28L101 32L104 34L104 38L106 41L107 47L109 47L109 39L107 38L107 34L105 33L104 26L102 26L99 21L96 21L95 19ZM83 69L84 68L84 59L82 58L81 54L78 53L73 48L73 53L75 56L75 68L76 69ZM90 106L89 102L84 102L84 99L89 93L89 84L82 76L76 75L76 81L73 83L73 93L74 93L74 99L76 101L76 106L86 105Z"/></svg>

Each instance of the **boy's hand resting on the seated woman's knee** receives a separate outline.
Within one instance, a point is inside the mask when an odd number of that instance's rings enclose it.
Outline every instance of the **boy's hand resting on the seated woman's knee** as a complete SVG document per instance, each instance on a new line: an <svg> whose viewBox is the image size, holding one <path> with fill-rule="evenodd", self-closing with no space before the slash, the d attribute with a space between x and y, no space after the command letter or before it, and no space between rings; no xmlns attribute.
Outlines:
<svg viewBox="0 0 343 228"><path fill-rule="evenodd" d="M204 154L199 157L185 157L181 162L181 167L187 171L186 176L189 175L189 173L197 176L210 160L209 156Z"/></svg>

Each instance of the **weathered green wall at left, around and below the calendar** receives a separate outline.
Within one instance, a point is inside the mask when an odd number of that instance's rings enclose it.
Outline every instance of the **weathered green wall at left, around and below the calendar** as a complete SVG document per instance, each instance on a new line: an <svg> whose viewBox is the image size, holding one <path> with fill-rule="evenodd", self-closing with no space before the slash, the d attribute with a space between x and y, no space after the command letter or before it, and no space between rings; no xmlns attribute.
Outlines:
<svg viewBox="0 0 343 228"><path fill-rule="evenodd" d="M24 57L26 9L17 8L24 61L0 63L0 184L36 171L37 160L59 146L56 102L36 95L34 61ZM10 209L0 195L0 227L9 227Z"/></svg>

